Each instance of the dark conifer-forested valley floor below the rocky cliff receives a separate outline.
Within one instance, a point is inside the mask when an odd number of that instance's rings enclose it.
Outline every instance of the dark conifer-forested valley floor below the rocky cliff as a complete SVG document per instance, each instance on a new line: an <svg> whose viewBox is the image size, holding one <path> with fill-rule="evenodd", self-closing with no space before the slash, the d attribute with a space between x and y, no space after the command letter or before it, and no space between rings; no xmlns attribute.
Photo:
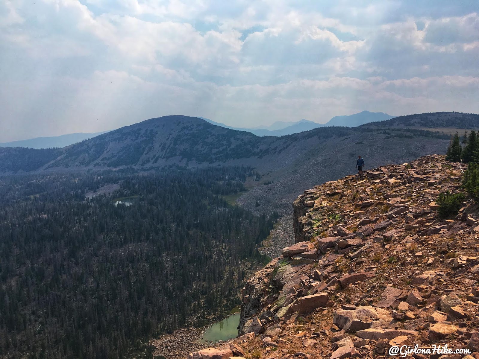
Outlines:
<svg viewBox="0 0 479 359"><path fill-rule="evenodd" d="M0 357L147 355L151 337L228 315L277 218L223 199L250 175L1 177Z"/></svg>

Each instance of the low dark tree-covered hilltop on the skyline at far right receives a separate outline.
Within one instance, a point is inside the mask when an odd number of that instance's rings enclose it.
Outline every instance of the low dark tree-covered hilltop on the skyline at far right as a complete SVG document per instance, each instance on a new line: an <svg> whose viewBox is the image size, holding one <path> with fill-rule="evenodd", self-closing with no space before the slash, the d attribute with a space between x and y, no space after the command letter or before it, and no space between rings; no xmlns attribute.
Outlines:
<svg viewBox="0 0 479 359"><path fill-rule="evenodd" d="M416 128L429 130L457 129L472 130L479 127L479 115L476 113L462 112L433 112L419 113L414 115L399 116L391 120L367 123L363 127L395 127L395 128Z"/></svg>

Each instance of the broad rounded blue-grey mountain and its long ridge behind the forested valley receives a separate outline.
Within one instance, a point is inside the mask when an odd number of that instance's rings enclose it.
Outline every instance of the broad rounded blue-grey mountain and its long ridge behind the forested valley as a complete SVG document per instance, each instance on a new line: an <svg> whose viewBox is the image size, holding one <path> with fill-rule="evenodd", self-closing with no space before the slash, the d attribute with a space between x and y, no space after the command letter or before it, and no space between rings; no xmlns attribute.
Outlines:
<svg viewBox="0 0 479 359"><path fill-rule="evenodd" d="M16 173L216 164L281 168L291 165L325 141L345 141L350 138L342 144L348 145L342 147L350 149L356 145L374 145L361 141L364 135L370 135L374 143L386 137L402 138L406 142L417 136L434 138L438 142L447 138L425 132L401 130L390 133L346 127L317 128L283 137L258 137L249 132L215 126L196 117L164 116L122 127L61 149L28 152L34 158L24 156L24 149L1 148L0 170L3 173ZM403 151L401 148L397 150Z"/></svg>

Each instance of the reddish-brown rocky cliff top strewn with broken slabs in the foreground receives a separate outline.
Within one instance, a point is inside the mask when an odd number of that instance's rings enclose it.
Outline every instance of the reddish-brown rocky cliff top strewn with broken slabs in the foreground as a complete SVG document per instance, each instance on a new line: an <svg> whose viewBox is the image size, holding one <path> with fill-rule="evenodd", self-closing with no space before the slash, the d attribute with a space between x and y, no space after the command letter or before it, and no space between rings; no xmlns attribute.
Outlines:
<svg viewBox="0 0 479 359"><path fill-rule="evenodd" d="M444 156L369 170L294 202L295 244L243 288L241 337L196 358L386 358L445 345L479 358L477 206L440 218L465 165Z"/></svg>

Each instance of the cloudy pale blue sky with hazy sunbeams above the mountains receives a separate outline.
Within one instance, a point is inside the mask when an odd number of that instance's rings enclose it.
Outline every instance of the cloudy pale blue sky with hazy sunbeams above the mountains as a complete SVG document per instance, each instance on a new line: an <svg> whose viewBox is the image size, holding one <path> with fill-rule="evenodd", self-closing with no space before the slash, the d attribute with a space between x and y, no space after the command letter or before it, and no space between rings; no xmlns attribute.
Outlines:
<svg viewBox="0 0 479 359"><path fill-rule="evenodd" d="M0 0L0 142L479 113L477 0Z"/></svg>

